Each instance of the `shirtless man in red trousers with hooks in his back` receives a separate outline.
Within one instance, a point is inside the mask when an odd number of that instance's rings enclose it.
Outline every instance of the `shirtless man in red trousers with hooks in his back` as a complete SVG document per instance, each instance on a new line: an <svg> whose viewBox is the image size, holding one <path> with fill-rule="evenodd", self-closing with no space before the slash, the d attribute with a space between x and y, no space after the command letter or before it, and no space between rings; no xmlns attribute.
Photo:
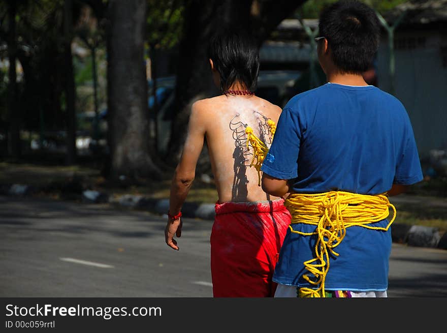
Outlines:
<svg viewBox="0 0 447 333"><path fill-rule="evenodd" d="M181 207L193 183L207 140L218 193L211 231L214 297L272 297L272 275L290 213L283 199L266 194L260 174L250 167L253 145L246 129L268 147L281 109L254 95L259 72L258 46L242 33L225 33L209 46L209 63L222 95L191 107L188 134L170 194L166 244L179 250ZM255 158L256 160L256 158Z"/></svg>

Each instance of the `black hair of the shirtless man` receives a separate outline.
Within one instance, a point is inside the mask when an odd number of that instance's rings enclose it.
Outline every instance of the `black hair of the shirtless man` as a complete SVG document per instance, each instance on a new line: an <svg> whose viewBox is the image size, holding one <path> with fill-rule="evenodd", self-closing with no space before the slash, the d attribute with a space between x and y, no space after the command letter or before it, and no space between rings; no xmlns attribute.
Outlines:
<svg viewBox="0 0 447 333"><path fill-rule="evenodd" d="M259 74L259 45L248 32L226 29L210 41L208 57L220 74L220 90L225 92L235 82L254 92Z"/></svg>

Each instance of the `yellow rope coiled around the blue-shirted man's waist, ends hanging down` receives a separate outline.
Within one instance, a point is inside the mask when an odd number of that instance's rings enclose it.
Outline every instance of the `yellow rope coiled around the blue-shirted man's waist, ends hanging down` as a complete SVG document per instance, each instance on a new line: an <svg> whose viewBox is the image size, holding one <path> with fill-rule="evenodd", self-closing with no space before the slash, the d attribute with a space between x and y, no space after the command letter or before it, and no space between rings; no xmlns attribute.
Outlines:
<svg viewBox="0 0 447 333"><path fill-rule="evenodd" d="M285 206L292 215L289 226L291 232L303 236L317 235L315 258L305 261L307 274L303 278L314 285L313 288L300 288L304 297L326 297L325 280L329 270L329 255L339 254L334 251L346 234L346 228L359 226L372 230L388 231L396 218L396 208L386 194L363 195L341 191L319 194L291 194L285 200ZM386 219L390 210L393 217L387 227L372 227L368 224ZM292 224L304 223L316 226L314 232L295 231Z"/></svg>

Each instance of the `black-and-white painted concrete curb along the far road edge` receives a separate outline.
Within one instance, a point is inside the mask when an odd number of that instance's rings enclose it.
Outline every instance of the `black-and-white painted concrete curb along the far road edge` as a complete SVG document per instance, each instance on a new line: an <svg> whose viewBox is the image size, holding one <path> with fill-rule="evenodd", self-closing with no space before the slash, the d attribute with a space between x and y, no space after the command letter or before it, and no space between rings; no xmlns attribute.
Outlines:
<svg viewBox="0 0 447 333"><path fill-rule="evenodd" d="M29 196L36 192L37 189L23 184L0 186L0 194L3 195ZM124 194L114 198L107 193L85 190L77 197L84 203L110 203L127 208L142 209L162 216L167 216L169 210L169 199L146 198L141 195ZM182 216L212 221L215 216L214 204L185 202L182 207ZM441 235L439 230L433 227L393 223L391 238L393 243L447 250L447 232Z"/></svg>

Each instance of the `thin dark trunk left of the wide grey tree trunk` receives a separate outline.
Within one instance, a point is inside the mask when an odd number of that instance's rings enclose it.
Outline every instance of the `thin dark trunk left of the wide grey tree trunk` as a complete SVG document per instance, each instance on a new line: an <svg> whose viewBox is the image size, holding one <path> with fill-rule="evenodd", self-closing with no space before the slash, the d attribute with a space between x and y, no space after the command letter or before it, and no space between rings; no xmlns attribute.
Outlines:
<svg viewBox="0 0 447 333"><path fill-rule="evenodd" d="M63 30L65 37L65 94L67 116L67 156L66 163L76 162L76 109L75 109L75 78L73 74L73 0L66 0L63 6Z"/></svg>

